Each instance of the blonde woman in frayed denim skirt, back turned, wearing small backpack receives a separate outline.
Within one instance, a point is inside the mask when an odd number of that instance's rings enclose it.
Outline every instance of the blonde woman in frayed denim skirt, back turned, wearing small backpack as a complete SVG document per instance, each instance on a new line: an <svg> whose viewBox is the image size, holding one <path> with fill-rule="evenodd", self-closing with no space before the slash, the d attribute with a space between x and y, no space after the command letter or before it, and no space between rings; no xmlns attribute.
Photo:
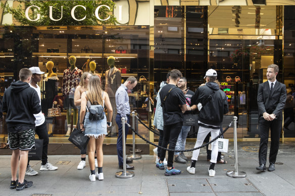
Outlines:
<svg viewBox="0 0 295 196"><path fill-rule="evenodd" d="M89 112L86 112L86 106L89 108L91 105L102 105L108 109L108 122L104 112L104 119L101 120L90 120ZM88 109L87 109L88 110ZM86 115L85 115L86 113ZM108 93L104 92L101 87L100 78L98 76L91 76L88 82L88 90L81 95L81 111L80 111L80 126L81 130L84 131L85 136L89 137L88 142L88 161L90 166L90 181L95 181L95 176L99 180L104 179L103 174L103 142L107 135L107 127L111 126L111 120L113 116L113 108L110 102ZM85 122L83 119L85 117ZM94 165L94 152L97 153L97 164L99 171L95 175Z"/></svg>

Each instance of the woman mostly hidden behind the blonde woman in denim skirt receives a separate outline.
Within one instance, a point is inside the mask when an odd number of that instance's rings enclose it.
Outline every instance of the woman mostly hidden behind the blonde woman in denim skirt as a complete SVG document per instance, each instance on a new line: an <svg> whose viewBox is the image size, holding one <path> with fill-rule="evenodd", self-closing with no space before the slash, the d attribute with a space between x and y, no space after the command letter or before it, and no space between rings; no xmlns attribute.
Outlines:
<svg viewBox="0 0 295 196"><path fill-rule="evenodd" d="M77 127L80 130L80 105L81 105L81 94L85 91L87 91L87 85L88 85L88 81L90 76L92 76L92 74L88 73L88 72L84 72L80 78L80 84L79 86L77 86L76 90L75 90L75 96L74 96L74 103L75 106L78 106L78 122L77 122ZM83 120L84 121L84 120ZM82 121L82 122L83 122ZM81 149L80 153L81 153L81 161L77 166L77 169L83 169L86 166L86 148L85 149ZM95 158L96 159L96 158ZM96 165L97 165L97 160L96 160Z"/></svg>

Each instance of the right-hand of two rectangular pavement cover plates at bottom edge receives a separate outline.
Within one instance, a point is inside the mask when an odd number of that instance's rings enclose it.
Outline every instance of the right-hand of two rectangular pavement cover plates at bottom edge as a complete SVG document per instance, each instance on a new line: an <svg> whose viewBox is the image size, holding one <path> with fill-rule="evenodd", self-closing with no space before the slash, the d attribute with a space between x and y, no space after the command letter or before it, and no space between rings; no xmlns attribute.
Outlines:
<svg viewBox="0 0 295 196"><path fill-rule="evenodd" d="M244 178L207 178L215 192L255 192L252 183Z"/></svg>

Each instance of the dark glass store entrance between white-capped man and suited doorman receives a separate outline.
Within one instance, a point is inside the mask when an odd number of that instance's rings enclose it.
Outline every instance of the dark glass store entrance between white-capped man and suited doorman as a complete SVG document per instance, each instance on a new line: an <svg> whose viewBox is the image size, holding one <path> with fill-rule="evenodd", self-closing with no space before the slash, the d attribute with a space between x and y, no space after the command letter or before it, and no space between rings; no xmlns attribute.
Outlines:
<svg viewBox="0 0 295 196"><path fill-rule="evenodd" d="M258 85L266 80L267 66L274 61L275 36L268 39L225 37L209 38L209 66L217 71L220 88L226 93L229 105L223 125L237 116L237 137L258 138ZM225 135L231 138L231 134Z"/></svg>

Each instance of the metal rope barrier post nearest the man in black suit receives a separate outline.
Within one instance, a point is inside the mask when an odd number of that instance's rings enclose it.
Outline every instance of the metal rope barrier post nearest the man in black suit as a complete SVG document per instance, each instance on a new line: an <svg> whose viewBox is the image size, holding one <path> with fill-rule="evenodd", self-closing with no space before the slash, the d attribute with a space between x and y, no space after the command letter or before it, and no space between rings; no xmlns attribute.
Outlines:
<svg viewBox="0 0 295 196"><path fill-rule="evenodd" d="M236 120L237 120L237 117L233 116L234 171L227 171L226 175L233 178L244 178L247 176L246 172L238 171L238 168L237 168Z"/></svg>

